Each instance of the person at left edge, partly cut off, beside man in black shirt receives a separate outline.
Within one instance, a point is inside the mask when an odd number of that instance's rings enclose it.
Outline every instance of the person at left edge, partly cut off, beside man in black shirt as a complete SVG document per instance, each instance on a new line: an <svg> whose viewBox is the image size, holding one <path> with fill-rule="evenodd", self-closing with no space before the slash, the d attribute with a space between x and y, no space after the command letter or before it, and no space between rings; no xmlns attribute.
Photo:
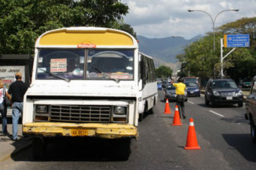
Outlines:
<svg viewBox="0 0 256 170"><path fill-rule="evenodd" d="M8 135L8 131L7 131L7 106L4 105L3 103L3 97L6 96L6 94L8 94L8 89L6 89L3 85L3 81L0 80L0 113L2 116L2 134L3 135Z"/></svg>

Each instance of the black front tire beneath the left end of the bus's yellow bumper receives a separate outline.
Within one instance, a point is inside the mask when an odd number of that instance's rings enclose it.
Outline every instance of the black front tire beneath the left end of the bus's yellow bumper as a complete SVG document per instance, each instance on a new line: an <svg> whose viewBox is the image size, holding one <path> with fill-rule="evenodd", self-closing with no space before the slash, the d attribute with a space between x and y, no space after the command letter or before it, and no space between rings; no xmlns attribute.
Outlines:
<svg viewBox="0 0 256 170"><path fill-rule="evenodd" d="M46 157L47 145L43 138L33 138L32 152L35 160L42 160Z"/></svg>

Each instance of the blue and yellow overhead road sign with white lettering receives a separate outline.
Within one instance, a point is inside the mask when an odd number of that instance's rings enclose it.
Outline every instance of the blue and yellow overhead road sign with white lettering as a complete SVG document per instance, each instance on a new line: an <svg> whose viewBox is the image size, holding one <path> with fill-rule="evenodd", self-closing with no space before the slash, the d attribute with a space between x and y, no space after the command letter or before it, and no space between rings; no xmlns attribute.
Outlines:
<svg viewBox="0 0 256 170"><path fill-rule="evenodd" d="M249 34L225 34L224 47L249 47Z"/></svg>

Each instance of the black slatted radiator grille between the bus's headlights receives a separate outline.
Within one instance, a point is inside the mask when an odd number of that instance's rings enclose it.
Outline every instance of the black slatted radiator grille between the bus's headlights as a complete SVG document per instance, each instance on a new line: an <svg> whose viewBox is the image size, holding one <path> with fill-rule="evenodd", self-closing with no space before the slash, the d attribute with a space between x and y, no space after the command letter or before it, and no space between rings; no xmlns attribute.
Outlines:
<svg viewBox="0 0 256 170"><path fill-rule="evenodd" d="M110 106L51 105L51 122L109 123Z"/></svg>

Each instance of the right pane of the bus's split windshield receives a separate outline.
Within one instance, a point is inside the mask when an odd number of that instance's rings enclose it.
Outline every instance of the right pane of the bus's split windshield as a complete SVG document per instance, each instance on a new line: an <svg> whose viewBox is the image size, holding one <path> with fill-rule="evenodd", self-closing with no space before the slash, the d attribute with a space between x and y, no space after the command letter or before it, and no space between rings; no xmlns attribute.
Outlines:
<svg viewBox="0 0 256 170"><path fill-rule="evenodd" d="M89 50L86 63L87 79L134 78L133 50Z"/></svg>

